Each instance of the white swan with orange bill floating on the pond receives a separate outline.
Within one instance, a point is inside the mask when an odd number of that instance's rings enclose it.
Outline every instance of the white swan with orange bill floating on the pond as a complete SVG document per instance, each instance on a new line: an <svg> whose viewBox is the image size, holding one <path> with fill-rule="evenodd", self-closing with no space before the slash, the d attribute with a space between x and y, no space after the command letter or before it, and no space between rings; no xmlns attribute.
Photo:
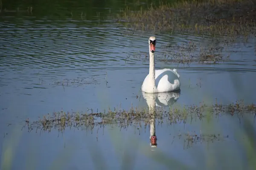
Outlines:
<svg viewBox="0 0 256 170"><path fill-rule="evenodd" d="M149 45L149 74L145 77L141 90L145 93L160 93L180 89L180 75L176 69L155 70L154 52L156 38L150 37Z"/></svg>

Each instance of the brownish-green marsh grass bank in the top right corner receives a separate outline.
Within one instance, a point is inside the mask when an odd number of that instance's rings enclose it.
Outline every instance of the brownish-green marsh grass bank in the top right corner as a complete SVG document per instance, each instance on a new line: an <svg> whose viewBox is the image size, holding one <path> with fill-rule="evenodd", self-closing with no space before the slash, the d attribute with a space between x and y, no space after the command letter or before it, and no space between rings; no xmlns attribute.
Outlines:
<svg viewBox="0 0 256 170"><path fill-rule="evenodd" d="M256 34L255 0L182 0L132 11L126 8L119 21L142 31L188 31L198 34Z"/></svg>

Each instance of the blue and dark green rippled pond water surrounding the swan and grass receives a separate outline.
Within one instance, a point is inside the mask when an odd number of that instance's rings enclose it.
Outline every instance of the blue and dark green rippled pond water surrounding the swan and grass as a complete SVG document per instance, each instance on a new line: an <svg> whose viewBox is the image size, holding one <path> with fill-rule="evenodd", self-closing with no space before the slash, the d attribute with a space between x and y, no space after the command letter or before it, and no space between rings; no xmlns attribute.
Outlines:
<svg viewBox="0 0 256 170"><path fill-rule="evenodd" d="M148 74L145 57L148 37L157 37L159 58L165 52L163 46L187 42L207 46L212 39L190 34L140 33L109 19L120 8L128 5L136 9L150 1L1 2L2 170L166 169L181 165L250 169L246 158L253 153L246 153L241 145L244 141L237 138L237 133L243 134L243 128L236 116L224 115L211 122L198 119L186 124L156 123L158 146L154 151L149 146L149 128L137 130L131 126L119 130L106 126L93 130L67 129L63 134L57 130L50 133L21 130L28 117L38 120L38 116L54 111L85 113L89 109L100 112L120 105L126 110L131 105L147 107L140 88ZM157 61L157 69L177 68L180 74L182 90L174 105L212 103L216 98L223 104L239 99L256 102L255 40L249 39L247 43L237 40L225 46L222 54L229 55L230 60L215 65ZM256 129L253 115L245 117ZM200 130L229 137L192 147L178 138L180 133L200 133Z"/></svg>

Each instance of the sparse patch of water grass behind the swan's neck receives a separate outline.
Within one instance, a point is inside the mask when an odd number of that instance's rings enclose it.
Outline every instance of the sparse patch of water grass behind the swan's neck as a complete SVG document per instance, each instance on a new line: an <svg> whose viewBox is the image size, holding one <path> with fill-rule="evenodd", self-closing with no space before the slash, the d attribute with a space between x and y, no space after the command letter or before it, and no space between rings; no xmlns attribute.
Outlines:
<svg viewBox="0 0 256 170"><path fill-rule="evenodd" d="M227 52L234 42L231 38L212 38L206 43L182 42L181 44L161 45L161 52L157 54L156 61L165 63L177 63L178 65L190 65L192 62L218 64L230 60L230 52ZM148 60L147 53L134 52L128 54L127 59Z"/></svg>

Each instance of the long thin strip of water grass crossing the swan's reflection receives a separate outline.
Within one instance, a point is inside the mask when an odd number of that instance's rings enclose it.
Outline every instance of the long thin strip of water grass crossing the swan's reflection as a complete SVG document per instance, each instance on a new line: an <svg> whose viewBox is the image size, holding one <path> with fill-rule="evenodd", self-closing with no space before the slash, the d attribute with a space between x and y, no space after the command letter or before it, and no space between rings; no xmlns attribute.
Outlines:
<svg viewBox="0 0 256 170"><path fill-rule="evenodd" d="M155 119L157 125L162 123L172 125L186 123L189 119L191 121L198 118L202 120L206 116L206 113L216 116L223 114L243 116L246 113L250 113L256 116L256 105L244 105L241 100L229 105L221 105L216 102L212 105L201 103L199 106L186 105L183 108L170 107L169 111L166 111L162 107L157 107L154 113L150 113L148 108L131 108L129 111L121 109L111 111L109 109L108 112L104 113L66 113L60 111L54 112L52 115L48 113L47 116L43 116L42 119L39 118L39 120L34 122L27 119L25 126L28 127L29 132L33 129L49 132L52 129L57 129L63 132L66 128L71 127L86 127L87 129L93 130L94 127L105 127L106 125L118 126L120 129L126 129L133 125L146 128L150 125L151 119Z"/></svg>

